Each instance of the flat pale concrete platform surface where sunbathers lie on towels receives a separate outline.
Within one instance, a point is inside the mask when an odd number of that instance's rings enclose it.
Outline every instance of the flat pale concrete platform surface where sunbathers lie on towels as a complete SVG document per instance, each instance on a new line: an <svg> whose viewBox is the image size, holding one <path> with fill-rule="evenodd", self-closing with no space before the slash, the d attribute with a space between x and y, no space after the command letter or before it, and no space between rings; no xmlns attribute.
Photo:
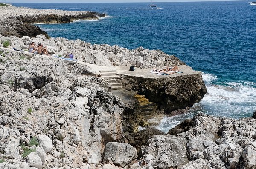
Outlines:
<svg viewBox="0 0 256 169"><path fill-rule="evenodd" d="M134 77L143 77L143 78L169 78L169 77L176 77L176 76L183 76L183 75L191 75L191 74L198 74L200 71L194 71L191 67L182 65L179 66L179 70L183 73L174 73L170 75L158 75L156 73L150 73L154 68L148 69L140 69L135 68L134 71L129 71L130 66L115 66L116 72L119 75L127 75L127 76L134 76ZM163 68L156 68L156 69L165 69Z"/></svg>

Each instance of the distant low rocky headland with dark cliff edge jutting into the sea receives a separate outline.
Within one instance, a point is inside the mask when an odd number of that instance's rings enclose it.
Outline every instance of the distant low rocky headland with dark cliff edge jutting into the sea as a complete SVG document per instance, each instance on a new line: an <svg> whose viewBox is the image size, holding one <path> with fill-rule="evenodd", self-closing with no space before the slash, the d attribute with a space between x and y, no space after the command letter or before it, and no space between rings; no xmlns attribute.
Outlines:
<svg viewBox="0 0 256 169"><path fill-rule="evenodd" d="M90 11L39 10L15 6L0 6L0 34L4 36L29 36L47 32L30 23L70 23L74 20L91 20L105 17L105 14Z"/></svg>

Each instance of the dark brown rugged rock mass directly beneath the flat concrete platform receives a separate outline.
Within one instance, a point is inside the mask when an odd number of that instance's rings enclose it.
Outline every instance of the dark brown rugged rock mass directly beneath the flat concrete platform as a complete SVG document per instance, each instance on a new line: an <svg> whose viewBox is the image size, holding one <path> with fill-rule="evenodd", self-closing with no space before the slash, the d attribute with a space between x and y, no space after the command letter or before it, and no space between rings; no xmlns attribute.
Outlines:
<svg viewBox="0 0 256 169"><path fill-rule="evenodd" d="M131 84L132 90L138 91L151 102L157 103L159 109L164 109L166 113L191 107L207 92L201 72L164 79L125 75L120 80Z"/></svg>

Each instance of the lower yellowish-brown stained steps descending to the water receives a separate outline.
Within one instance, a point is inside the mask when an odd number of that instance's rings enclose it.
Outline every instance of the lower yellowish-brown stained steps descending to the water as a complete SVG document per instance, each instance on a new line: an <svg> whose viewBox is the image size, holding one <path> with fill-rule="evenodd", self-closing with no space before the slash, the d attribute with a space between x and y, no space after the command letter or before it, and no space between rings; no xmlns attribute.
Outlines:
<svg viewBox="0 0 256 169"><path fill-rule="evenodd" d="M135 95L135 98L139 100L140 111L143 113L145 120L152 117L157 109L156 103L150 102L144 95Z"/></svg>

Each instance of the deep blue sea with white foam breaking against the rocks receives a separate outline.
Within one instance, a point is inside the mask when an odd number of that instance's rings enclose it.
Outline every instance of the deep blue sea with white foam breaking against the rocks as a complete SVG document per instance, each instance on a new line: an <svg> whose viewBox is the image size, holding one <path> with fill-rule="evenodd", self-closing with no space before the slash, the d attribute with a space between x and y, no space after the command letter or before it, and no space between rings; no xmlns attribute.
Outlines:
<svg viewBox="0 0 256 169"><path fill-rule="evenodd" d="M202 71L207 94L187 113L164 117L168 132L197 113L231 118L256 111L256 6L247 1L155 3L12 3L36 9L96 11L99 20L38 24L51 37L92 44L143 46L174 54Z"/></svg>

